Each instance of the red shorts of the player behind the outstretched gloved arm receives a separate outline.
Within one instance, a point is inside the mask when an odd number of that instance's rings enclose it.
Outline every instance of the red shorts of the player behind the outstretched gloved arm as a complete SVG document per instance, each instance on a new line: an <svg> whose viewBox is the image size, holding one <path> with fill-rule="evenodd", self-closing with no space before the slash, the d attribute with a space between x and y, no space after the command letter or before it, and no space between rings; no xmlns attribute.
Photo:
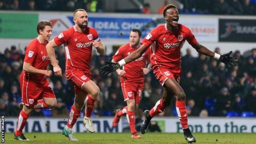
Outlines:
<svg viewBox="0 0 256 144"><path fill-rule="evenodd" d="M144 83L121 81L124 101L135 99L135 103L139 104Z"/></svg>

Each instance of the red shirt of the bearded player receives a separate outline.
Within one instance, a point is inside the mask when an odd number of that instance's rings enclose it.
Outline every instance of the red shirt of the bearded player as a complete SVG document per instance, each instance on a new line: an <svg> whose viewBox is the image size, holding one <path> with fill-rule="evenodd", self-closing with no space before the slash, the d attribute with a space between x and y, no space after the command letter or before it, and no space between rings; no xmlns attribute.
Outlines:
<svg viewBox="0 0 256 144"><path fill-rule="evenodd" d="M64 44L66 69L82 70L91 73L92 41L100 41L97 30L88 27L87 33L78 32L75 27L62 31L54 38L57 45Z"/></svg>

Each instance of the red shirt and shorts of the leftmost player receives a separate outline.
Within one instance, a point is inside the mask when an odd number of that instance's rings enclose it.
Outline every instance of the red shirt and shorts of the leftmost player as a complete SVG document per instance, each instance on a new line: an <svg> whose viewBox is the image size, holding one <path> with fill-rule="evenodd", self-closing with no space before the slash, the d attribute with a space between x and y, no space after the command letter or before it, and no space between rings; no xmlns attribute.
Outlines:
<svg viewBox="0 0 256 144"><path fill-rule="evenodd" d="M46 44L42 44L38 38L29 43L24 61L30 63L36 69L46 70L51 62L47 57ZM22 103L27 106L35 106L38 99L55 98L50 83L43 74L29 74L22 71L20 75L20 89Z"/></svg>

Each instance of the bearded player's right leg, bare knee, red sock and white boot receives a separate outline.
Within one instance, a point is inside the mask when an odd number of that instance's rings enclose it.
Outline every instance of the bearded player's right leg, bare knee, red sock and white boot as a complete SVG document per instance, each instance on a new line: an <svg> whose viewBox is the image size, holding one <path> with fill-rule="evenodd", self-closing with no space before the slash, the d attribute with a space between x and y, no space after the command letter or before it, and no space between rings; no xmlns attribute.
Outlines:
<svg viewBox="0 0 256 144"><path fill-rule="evenodd" d="M85 102L85 116L83 119L83 123L85 125L85 128L89 132L95 132L93 123L92 123L92 111L94 108L94 102L97 99L100 89L99 87L93 82L93 81L88 81L82 85L82 89L86 91L87 98Z"/></svg>

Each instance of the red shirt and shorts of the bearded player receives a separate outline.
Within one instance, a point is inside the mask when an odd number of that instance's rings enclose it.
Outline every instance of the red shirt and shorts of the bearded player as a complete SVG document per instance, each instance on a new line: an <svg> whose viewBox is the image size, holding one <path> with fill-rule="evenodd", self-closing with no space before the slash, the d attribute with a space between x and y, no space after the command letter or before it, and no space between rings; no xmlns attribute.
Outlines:
<svg viewBox="0 0 256 144"><path fill-rule="evenodd" d="M68 80L75 84L75 93L83 91L82 85L90 81L92 41L100 41L97 30L92 27L87 29L87 34L84 34L78 32L75 27L70 27L54 38L57 45L64 44L66 75Z"/></svg>

